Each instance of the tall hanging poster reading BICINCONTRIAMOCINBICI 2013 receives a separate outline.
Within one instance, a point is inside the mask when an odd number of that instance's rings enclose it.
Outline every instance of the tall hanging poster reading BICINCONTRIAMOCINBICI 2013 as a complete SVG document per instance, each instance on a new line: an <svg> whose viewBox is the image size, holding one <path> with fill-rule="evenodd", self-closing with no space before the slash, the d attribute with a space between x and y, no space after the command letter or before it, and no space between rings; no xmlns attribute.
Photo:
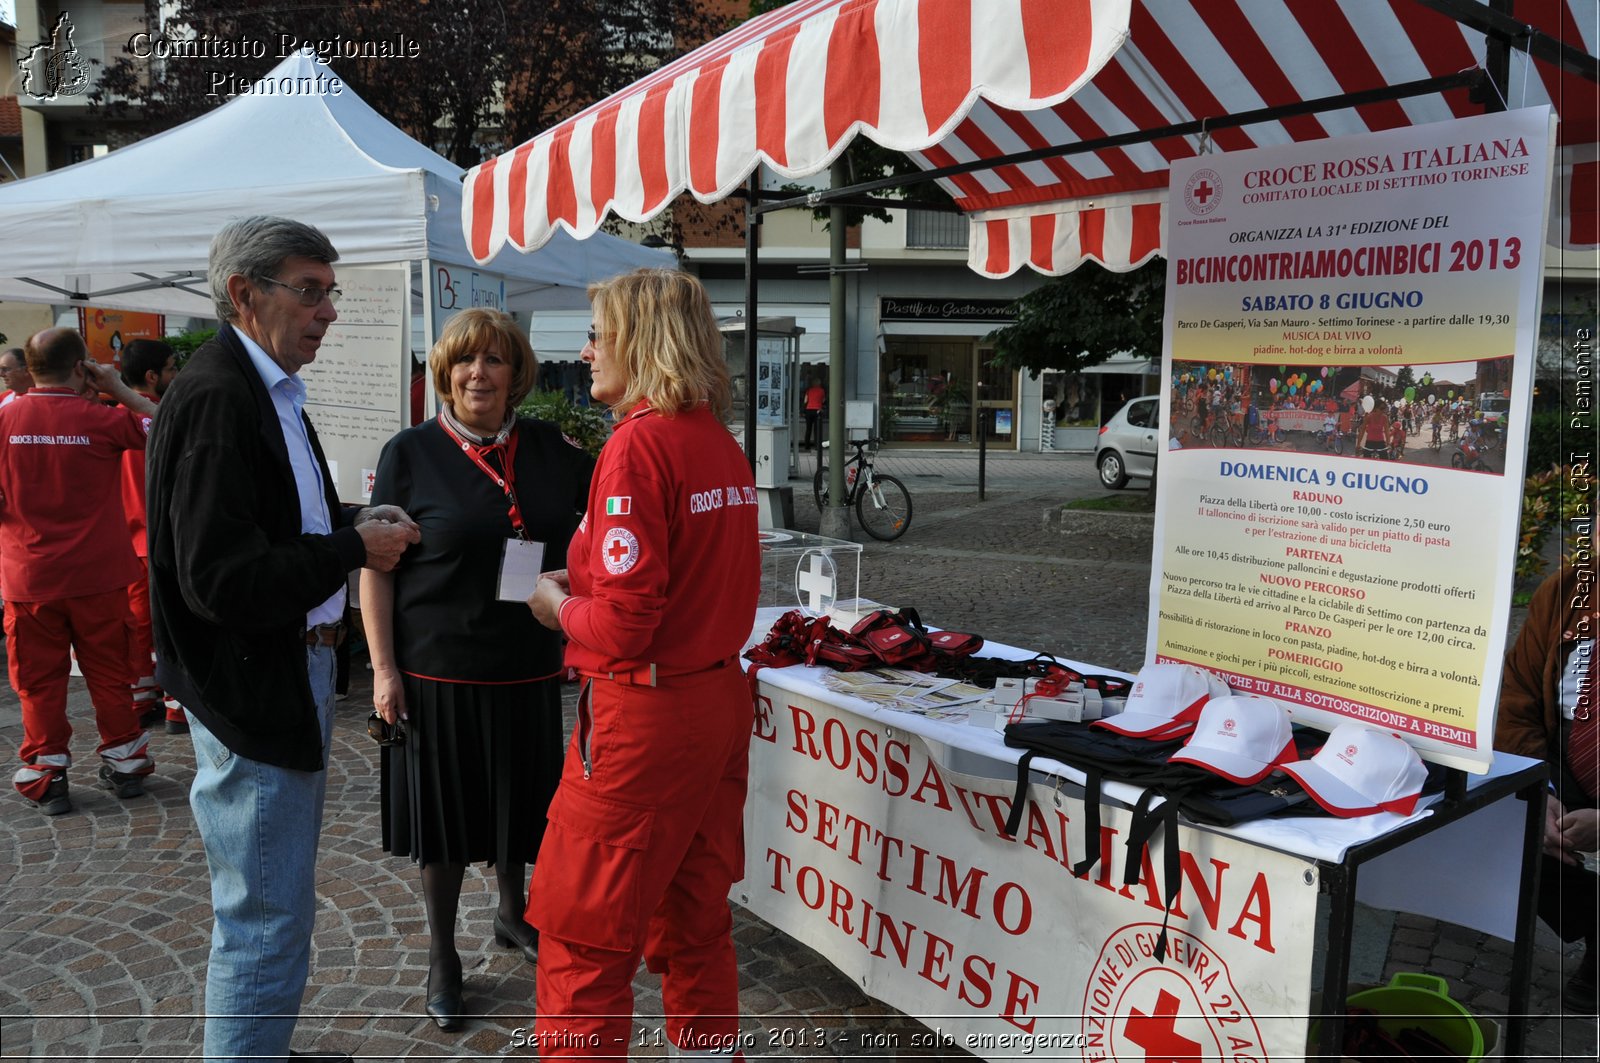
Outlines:
<svg viewBox="0 0 1600 1063"><path fill-rule="evenodd" d="M1149 660L1485 770L1550 126L1533 107L1173 165Z"/></svg>

